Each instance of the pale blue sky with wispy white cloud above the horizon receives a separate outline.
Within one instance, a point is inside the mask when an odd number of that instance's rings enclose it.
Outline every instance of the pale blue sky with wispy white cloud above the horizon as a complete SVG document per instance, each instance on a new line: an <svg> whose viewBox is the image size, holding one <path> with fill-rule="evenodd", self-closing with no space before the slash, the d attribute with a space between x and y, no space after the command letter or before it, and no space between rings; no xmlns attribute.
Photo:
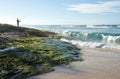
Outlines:
<svg viewBox="0 0 120 79"><path fill-rule="evenodd" d="M0 23L120 24L120 0L0 0Z"/></svg>

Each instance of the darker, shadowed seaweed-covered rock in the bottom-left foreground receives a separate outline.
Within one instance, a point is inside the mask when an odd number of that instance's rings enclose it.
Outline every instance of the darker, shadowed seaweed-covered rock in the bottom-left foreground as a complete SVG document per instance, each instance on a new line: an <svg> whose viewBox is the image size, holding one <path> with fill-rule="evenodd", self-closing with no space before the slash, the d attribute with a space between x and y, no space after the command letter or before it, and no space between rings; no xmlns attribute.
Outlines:
<svg viewBox="0 0 120 79"><path fill-rule="evenodd" d="M0 78L1 79L24 79L38 73L54 70L50 65L44 66L41 56L29 50L18 48L0 53ZM41 69L37 68L41 66Z"/></svg>

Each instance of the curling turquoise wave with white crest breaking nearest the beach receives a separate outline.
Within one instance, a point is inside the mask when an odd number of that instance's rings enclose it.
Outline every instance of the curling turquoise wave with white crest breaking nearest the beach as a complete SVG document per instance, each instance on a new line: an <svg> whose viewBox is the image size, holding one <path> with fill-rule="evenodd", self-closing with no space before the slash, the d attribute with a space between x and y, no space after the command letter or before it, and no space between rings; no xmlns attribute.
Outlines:
<svg viewBox="0 0 120 79"><path fill-rule="evenodd" d="M61 33L62 36L71 40L89 41L89 42L103 42L103 43L115 43L120 44L120 34L110 33L83 33L65 31Z"/></svg>

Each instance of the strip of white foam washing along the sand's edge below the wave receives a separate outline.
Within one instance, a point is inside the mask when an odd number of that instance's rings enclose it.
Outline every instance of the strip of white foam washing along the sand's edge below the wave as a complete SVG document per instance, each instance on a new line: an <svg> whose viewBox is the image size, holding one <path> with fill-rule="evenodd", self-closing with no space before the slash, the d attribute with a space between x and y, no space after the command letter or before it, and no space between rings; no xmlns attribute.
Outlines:
<svg viewBox="0 0 120 79"><path fill-rule="evenodd" d="M61 41L69 42L79 47L120 49L120 45L114 45L114 44L105 44L98 42L82 42L80 40L67 40L64 38L62 38Z"/></svg>

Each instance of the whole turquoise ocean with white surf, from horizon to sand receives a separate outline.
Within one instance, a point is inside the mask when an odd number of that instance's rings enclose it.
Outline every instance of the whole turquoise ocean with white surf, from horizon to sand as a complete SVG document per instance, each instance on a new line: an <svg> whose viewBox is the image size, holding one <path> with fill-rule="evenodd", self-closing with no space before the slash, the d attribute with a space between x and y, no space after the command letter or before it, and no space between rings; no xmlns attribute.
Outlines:
<svg viewBox="0 0 120 79"><path fill-rule="evenodd" d="M55 32L79 47L120 49L120 25L29 25Z"/></svg>

